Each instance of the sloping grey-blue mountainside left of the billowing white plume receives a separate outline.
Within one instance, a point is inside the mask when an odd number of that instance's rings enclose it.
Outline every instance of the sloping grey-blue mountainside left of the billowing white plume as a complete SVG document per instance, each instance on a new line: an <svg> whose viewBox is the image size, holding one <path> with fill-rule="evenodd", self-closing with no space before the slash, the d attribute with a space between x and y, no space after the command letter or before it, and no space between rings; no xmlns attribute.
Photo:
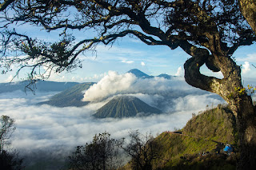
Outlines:
<svg viewBox="0 0 256 170"><path fill-rule="evenodd" d="M54 105L57 107L67 107L67 106L76 106L81 107L83 105L88 104L87 101L81 101L83 98L83 91L90 88L90 85L94 85L94 83L81 83L78 85L74 85L70 89L66 89L65 91L58 93L50 98L49 101L43 101L38 103L38 105Z"/></svg>

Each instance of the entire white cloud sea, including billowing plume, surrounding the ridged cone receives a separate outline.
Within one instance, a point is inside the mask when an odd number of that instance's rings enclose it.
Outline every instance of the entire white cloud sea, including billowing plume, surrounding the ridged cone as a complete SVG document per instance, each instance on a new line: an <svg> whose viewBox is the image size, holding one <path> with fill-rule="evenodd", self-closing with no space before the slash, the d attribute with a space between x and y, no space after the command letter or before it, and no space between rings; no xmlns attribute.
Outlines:
<svg viewBox="0 0 256 170"><path fill-rule="evenodd" d="M142 133L151 132L154 136L173 131L184 127L192 113L225 103L218 95L187 85L182 77L141 79L132 73L116 72L109 72L86 90L83 100L91 101L89 105L80 108L36 105L54 94L56 92L36 92L33 95L22 91L1 94L1 114L15 120L12 146L27 158L26 164L32 164L29 161L31 156L42 159L45 154L44 158L64 158L74 151L75 146L90 142L100 132L109 132L111 137L118 139L137 129ZM123 119L91 117L112 97L124 94L138 97L148 105L162 109L163 113Z"/></svg>

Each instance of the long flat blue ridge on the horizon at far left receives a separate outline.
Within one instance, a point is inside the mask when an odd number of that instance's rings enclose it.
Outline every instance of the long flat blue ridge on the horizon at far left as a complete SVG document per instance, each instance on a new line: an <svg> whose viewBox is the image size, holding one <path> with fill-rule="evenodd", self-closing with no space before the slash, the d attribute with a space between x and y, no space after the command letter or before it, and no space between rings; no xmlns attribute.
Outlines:
<svg viewBox="0 0 256 170"><path fill-rule="evenodd" d="M14 92L16 90L25 91L26 85L29 85L30 81L18 81L10 83L0 83L0 93ZM55 82L55 81L37 81L31 86L35 91L63 91L70 87L78 85L77 82Z"/></svg>

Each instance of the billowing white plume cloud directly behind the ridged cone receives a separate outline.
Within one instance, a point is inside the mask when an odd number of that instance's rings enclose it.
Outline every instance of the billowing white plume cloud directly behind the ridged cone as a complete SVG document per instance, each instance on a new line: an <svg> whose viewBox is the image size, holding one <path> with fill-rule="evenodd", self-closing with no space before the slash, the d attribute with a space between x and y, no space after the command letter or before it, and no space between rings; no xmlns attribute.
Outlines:
<svg viewBox="0 0 256 170"><path fill-rule="evenodd" d="M187 85L183 77L173 77L171 81L163 77L141 79L135 77L133 73L118 74L110 71L101 81L86 90L83 101L102 101L114 95L130 93L150 95L157 93L174 97L175 94L178 94L176 89L182 89L182 91L190 90L190 93L198 92L198 89Z"/></svg>

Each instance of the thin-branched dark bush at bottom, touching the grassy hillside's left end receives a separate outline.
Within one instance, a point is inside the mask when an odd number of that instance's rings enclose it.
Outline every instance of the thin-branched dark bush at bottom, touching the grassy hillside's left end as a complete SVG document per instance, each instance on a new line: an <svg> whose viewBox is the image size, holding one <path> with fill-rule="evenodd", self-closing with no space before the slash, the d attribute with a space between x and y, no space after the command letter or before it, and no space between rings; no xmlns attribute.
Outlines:
<svg viewBox="0 0 256 170"><path fill-rule="evenodd" d="M142 136L138 131L130 132L130 141L123 144L121 148L131 157L129 162L134 170L150 170L153 161L159 159L161 145L158 144L152 135Z"/></svg>

